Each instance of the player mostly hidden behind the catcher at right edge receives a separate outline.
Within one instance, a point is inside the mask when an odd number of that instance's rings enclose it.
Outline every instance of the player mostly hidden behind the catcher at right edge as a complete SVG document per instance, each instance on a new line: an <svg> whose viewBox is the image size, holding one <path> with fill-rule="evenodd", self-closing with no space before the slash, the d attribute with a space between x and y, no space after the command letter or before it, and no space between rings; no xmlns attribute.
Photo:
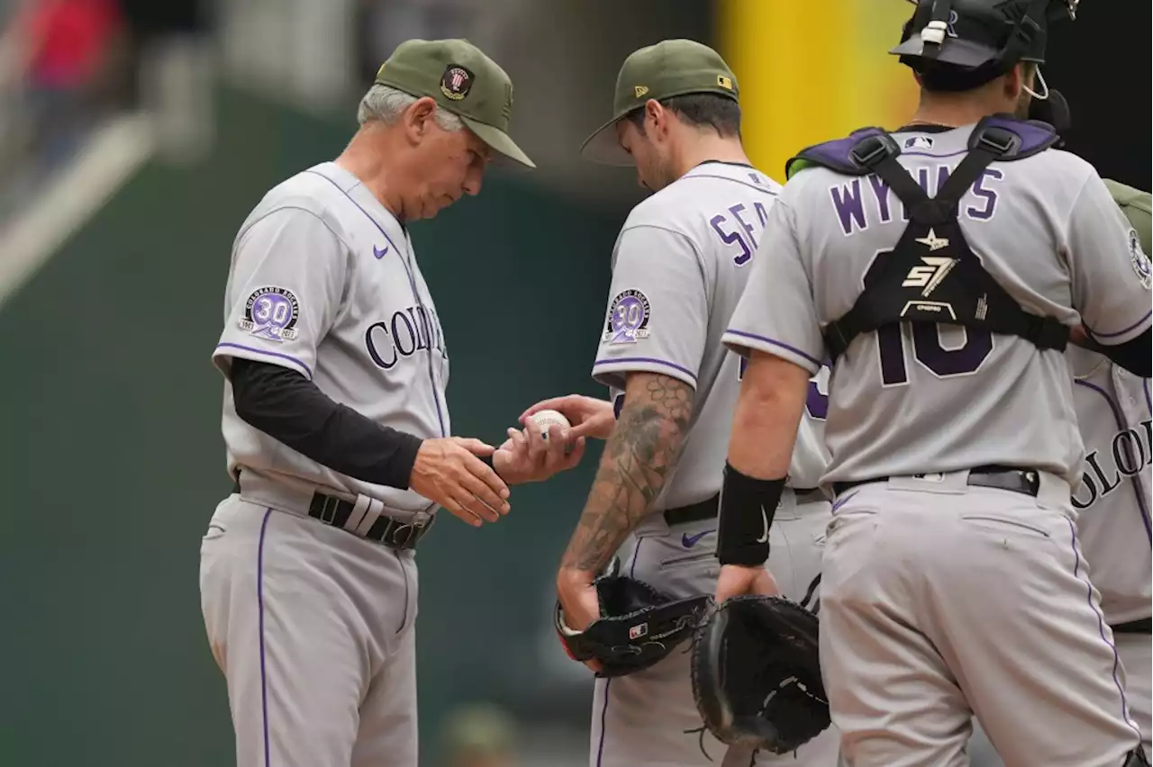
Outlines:
<svg viewBox="0 0 1153 767"><path fill-rule="evenodd" d="M1106 180L1133 231L1153 243L1153 195ZM1085 442L1073 491L1077 536L1125 671L1125 699L1153 747L1153 382L1106 355L1070 345L1073 409ZM973 752L988 750L974 728ZM982 767L1001 764L995 757Z"/></svg>

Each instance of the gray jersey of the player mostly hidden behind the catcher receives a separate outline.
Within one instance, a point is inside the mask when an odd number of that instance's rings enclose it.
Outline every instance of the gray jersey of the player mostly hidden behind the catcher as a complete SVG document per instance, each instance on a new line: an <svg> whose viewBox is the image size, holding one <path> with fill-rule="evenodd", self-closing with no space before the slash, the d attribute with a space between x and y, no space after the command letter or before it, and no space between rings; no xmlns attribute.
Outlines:
<svg viewBox="0 0 1153 767"><path fill-rule="evenodd" d="M1153 617L1153 393L1150 380L1070 347L1085 464L1077 532L1110 625Z"/></svg>

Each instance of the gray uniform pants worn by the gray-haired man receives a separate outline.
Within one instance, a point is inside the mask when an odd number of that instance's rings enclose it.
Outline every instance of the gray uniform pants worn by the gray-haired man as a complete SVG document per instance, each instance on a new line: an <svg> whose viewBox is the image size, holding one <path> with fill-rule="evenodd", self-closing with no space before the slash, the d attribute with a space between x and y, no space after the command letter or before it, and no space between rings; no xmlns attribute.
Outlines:
<svg viewBox="0 0 1153 767"><path fill-rule="evenodd" d="M201 544L236 767L416 767L416 564L232 495Z"/></svg>

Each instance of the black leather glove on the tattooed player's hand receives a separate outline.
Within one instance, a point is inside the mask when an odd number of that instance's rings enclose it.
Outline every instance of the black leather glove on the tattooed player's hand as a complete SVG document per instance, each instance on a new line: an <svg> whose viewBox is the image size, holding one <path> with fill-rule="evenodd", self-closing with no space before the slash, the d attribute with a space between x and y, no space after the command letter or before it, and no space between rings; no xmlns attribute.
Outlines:
<svg viewBox="0 0 1153 767"><path fill-rule="evenodd" d="M597 676L624 676L649 668L673 647L692 638L704 615L708 595L673 600L653 586L613 569L593 582L601 617L583 631L564 622L557 602L557 635L570 658L601 663Z"/></svg>

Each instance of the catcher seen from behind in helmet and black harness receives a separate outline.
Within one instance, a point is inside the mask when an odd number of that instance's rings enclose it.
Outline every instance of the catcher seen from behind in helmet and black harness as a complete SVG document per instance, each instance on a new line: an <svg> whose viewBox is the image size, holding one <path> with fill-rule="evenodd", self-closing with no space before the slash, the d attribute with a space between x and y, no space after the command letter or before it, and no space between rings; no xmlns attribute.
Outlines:
<svg viewBox="0 0 1153 767"><path fill-rule="evenodd" d="M1100 176L1024 122L1075 3L926 0L921 106L790 164L724 341L748 356L718 600L760 590L808 377L832 360L821 662L850 767L959 767L975 714L1010 767L1145 765L1077 541L1084 325L1153 373L1148 258Z"/></svg>

